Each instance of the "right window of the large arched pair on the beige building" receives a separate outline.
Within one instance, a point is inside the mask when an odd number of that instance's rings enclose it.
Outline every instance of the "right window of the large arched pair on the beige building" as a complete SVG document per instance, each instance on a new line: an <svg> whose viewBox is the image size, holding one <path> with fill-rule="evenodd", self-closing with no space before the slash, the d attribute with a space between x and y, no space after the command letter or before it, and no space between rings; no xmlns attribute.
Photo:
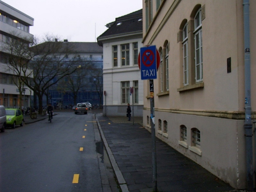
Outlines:
<svg viewBox="0 0 256 192"><path fill-rule="evenodd" d="M202 52L202 16L201 9L195 16L195 64L196 64L196 82L203 80L203 52Z"/></svg>

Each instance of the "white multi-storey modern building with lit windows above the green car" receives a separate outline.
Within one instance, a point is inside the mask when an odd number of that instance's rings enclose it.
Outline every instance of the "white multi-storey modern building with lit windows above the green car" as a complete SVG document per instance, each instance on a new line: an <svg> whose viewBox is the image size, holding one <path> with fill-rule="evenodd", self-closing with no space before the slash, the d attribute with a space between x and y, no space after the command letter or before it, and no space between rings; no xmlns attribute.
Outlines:
<svg viewBox="0 0 256 192"><path fill-rule="evenodd" d="M19 89L14 82L17 76L8 67L9 52L4 48L11 38L22 40L33 39L29 33L34 19L0 0L0 105L18 107ZM30 95L33 94L26 86L23 88L23 106L30 106Z"/></svg>

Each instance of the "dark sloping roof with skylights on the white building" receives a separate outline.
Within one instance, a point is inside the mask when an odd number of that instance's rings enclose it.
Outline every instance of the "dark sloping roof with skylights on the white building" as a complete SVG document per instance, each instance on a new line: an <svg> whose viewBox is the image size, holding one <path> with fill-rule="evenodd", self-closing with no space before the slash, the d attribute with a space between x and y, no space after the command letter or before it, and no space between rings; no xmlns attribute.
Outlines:
<svg viewBox="0 0 256 192"><path fill-rule="evenodd" d="M98 36L97 39L131 32L142 33L142 9L118 17L114 22L110 22L106 26L109 28ZM101 44L99 40L98 43Z"/></svg>

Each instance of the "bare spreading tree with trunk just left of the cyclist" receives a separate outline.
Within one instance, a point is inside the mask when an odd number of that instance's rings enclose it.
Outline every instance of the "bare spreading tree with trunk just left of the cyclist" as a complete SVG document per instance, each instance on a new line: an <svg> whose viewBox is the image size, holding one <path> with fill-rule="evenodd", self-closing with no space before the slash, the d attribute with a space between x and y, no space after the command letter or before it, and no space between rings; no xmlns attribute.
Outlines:
<svg viewBox="0 0 256 192"><path fill-rule="evenodd" d="M77 70L77 57L69 58L72 48L65 42L58 42L56 38L49 36L31 50L36 54L30 62L34 75L31 79L25 78L24 82L37 95L41 114L44 94L51 86Z"/></svg>

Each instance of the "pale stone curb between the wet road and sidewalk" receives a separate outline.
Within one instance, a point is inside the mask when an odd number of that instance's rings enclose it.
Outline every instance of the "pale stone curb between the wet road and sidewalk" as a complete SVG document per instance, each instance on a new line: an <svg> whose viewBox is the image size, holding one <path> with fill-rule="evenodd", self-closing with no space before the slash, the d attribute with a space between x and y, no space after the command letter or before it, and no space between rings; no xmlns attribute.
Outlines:
<svg viewBox="0 0 256 192"><path fill-rule="evenodd" d="M96 118L98 128L100 130L100 136L101 136L102 141L104 143L104 146L106 148L106 152L108 154L108 158L110 160L111 166L112 166L112 168L114 170L114 173L116 175L116 179L118 181L118 184L120 185L120 188L121 188L122 192L129 192L128 186L127 186L126 181L124 179L124 176L123 176L122 172L120 171L120 169L118 167L118 164L116 163L116 160L114 158L114 155L113 155L110 147L108 146L108 142L107 142L107 140L104 136L104 133L103 133L102 128L100 126L100 122L98 121L98 118L97 118L96 114L94 114L94 116Z"/></svg>

